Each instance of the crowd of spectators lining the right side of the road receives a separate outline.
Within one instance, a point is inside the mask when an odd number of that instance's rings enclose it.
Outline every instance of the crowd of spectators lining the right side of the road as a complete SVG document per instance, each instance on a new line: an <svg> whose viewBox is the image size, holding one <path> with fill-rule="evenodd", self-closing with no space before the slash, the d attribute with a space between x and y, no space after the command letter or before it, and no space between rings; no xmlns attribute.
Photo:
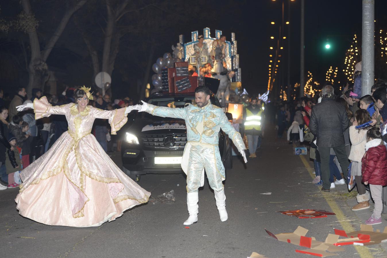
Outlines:
<svg viewBox="0 0 387 258"><path fill-rule="evenodd" d="M282 104L277 109L277 133L282 137L288 128L292 143L301 131L310 143L313 183L329 192L338 184L356 182L358 204L352 210L368 209L371 194L375 208L366 224L379 224L382 186L387 185L387 151L380 132L387 120L387 82L377 80L370 94L362 96L360 70L354 73L353 86L335 90L325 85L318 99L305 97Z"/></svg>

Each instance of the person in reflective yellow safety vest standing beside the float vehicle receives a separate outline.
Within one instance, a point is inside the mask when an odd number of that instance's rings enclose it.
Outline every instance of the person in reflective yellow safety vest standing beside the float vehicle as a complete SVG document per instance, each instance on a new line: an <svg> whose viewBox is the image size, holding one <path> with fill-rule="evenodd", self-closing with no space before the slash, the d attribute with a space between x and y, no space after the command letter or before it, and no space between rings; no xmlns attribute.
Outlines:
<svg viewBox="0 0 387 258"><path fill-rule="evenodd" d="M255 152L257 151L259 138L262 137L263 113L261 106L258 105L257 98L253 97L250 103L243 112L243 124L250 152L249 158L256 158Z"/></svg>

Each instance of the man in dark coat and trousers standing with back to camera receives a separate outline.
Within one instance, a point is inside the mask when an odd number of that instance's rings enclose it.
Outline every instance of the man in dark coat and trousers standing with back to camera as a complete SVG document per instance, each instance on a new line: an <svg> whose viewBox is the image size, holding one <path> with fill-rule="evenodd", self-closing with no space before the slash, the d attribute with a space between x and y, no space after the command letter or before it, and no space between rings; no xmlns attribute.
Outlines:
<svg viewBox="0 0 387 258"><path fill-rule="evenodd" d="M329 156L330 148L336 153L344 178L347 178L349 161L345 150L344 131L349 126L348 115L344 105L334 99L334 89L330 85L322 88L322 101L312 109L310 131L317 137L321 160L322 191L330 190Z"/></svg>

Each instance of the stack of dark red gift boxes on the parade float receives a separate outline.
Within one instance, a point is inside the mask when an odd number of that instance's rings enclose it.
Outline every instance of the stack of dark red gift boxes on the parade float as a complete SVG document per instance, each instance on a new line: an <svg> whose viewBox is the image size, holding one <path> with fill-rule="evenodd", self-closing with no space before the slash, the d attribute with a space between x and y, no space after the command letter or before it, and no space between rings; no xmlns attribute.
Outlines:
<svg viewBox="0 0 387 258"><path fill-rule="evenodd" d="M164 93L191 93L204 85L204 77L188 76L188 62L176 62L161 71L161 83Z"/></svg>

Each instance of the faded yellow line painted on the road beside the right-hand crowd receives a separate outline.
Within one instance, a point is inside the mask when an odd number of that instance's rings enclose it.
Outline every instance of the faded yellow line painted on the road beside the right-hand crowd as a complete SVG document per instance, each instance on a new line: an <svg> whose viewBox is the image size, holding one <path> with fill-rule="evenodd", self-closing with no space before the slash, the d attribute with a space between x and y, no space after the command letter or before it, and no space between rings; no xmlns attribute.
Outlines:
<svg viewBox="0 0 387 258"><path fill-rule="evenodd" d="M310 164L307 161L307 159L305 158L305 156L300 155L300 158L301 158L302 163L304 163L305 168L307 168L310 177L315 178L315 176L312 173L313 168L310 166ZM325 195L323 195L323 196L324 196L325 201L328 203L330 209L332 209L332 212L334 212L336 214L336 217L337 217L338 221L340 222L344 231L353 232L354 230L356 230L353 228L353 226L351 224L349 224L349 222L347 221L347 218L344 216L344 213L340 209L339 205L337 205L336 201L327 199L327 197L325 197ZM370 252L370 250L367 247L365 247L365 246L354 246L354 247L356 248L356 251L358 252L358 254L360 255L361 258L373 257L372 253Z"/></svg>

